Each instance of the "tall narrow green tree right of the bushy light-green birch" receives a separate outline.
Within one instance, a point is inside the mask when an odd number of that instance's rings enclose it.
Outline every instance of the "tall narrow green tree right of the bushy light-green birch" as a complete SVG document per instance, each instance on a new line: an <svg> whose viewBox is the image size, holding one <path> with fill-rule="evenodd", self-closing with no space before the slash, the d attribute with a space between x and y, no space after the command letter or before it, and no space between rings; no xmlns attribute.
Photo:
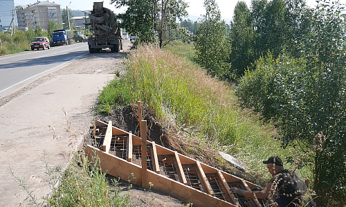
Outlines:
<svg viewBox="0 0 346 207"><path fill-rule="evenodd" d="M251 12L245 1L238 1L235 6L233 21L230 26L232 53L230 63L233 79L238 80L244 71L255 61L255 30Z"/></svg>

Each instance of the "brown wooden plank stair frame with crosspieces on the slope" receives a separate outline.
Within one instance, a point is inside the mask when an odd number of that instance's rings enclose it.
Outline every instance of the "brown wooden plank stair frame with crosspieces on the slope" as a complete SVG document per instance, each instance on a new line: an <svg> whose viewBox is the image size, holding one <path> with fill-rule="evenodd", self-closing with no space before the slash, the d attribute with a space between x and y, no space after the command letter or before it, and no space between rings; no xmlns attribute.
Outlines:
<svg viewBox="0 0 346 207"><path fill-rule="evenodd" d="M97 121L94 125L98 127L107 126L106 135L104 136L104 142L102 143L102 150L97 149L91 145L87 145L85 152L87 156L89 156L89 160L91 156L93 156L93 152L96 152L100 157L100 168L103 172L107 172L108 174L113 175L114 177L120 177L123 180L131 180L130 182L137 185L143 186L143 188L147 188L148 182L152 182L154 186L152 186L153 190L157 190L159 192L163 192L167 195L175 197L176 199L181 199L186 203L192 202L196 206L240 206L239 201L235 198L228 186L228 182L240 182L247 190L258 187L253 183L245 181L244 179L240 179L239 177L235 177L231 174L223 172L221 170L217 170L216 168L212 168L209 165L204 163L200 163L194 159L190 159L188 156L184 156L183 154L179 154L178 152L169 150L160 145L156 145L154 142L144 141L144 139L131 134L131 132L125 132L122 129L118 129L116 127L111 126L111 122L102 123L101 121ZM146 128L146 127L145 127ZM146 132L146 129L144 130ZM110 135L109 135L110 134ZM120 159L117 156L109 153L110 149L110 141L113 135L116 136L128 136L127 138L127 159ZM146 135L143 135L146 136ZM146 138L145 138L146 140ZM154 165L154 171L147 170L147 168L142 168L139 165L132 163L133 156L132 150L134 143L138 145L138 143L145 143L145 145L152 145L152 160ZM108 152L107 152L108 150ZM102 152L103 151L103 152ZM160 156L174 156L176 163L176 171L179 174L179 179L181 181L175 181L168 177L160 174L159 165L158 165L158 155ZM146 159L145 159L146 160ZM146 162L145 162L146 165ZM204 186L206 186L206 192L201 192L196 190L190 186L188 186L188 181L183 173L182 165L196 165L201 174L201 181L203 181ZM131 176L134 174L134 176ZM144 175L143 175L144 174ZM213 194L213 190L210 186L210 183L206 177L206 174L217 174L219 179L222 181L222 185L226 189L226 193L228 197L230 197L231 201L225 201L215 197ZM255 204L255 205L253 205ZM252 202L251 207L257 207L259 204L256 202Z"/></svg>

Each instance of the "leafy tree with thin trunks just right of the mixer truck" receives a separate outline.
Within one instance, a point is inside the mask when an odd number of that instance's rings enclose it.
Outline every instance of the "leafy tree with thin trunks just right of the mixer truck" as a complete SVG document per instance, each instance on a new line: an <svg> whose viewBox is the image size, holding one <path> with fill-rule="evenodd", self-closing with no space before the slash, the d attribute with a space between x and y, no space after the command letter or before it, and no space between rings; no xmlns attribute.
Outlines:
<svg viewBox="0 0 346 207"><path fill-rule="evenodd" d="M177 28L176 19L187 15L188 6L183 0L111 0L111 3L116 8L127 7L125 13L118 15L127 32L138 35L142 42L154 43L158 39L160 47L165 40L171 40L170 32Z"/></svg>

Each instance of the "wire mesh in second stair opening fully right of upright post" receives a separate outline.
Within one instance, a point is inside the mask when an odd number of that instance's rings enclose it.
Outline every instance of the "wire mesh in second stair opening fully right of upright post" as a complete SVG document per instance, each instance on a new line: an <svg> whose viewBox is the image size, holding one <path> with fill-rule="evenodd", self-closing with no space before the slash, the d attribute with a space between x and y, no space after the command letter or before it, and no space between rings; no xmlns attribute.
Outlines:
<svg viewBox="0 0 346 207"><path fill-rule="evenodd" d="M206 192L206 186L201 182L201 175L197 169L197 165L181 165L185 174L188 186Z"/></svg>

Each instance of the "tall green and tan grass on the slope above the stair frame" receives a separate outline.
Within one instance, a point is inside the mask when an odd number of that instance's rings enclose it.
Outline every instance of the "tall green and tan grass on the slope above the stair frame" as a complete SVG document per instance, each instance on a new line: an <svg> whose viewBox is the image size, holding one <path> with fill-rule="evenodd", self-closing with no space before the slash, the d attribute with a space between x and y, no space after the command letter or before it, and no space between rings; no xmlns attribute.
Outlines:
<svg viewBox="0 0 346 207"><path fill-rule="evenodd" d="M188 129L182 131L241 159L258 177L269 178L264 159L293 156L273 138L273 126L239 109L233 85L210 78L183 55L153 46L138 46L129 55L125 77L105 87L99 100L98 110L106 113L141 100L158 118L170 120L167 125Z"/></svg>

